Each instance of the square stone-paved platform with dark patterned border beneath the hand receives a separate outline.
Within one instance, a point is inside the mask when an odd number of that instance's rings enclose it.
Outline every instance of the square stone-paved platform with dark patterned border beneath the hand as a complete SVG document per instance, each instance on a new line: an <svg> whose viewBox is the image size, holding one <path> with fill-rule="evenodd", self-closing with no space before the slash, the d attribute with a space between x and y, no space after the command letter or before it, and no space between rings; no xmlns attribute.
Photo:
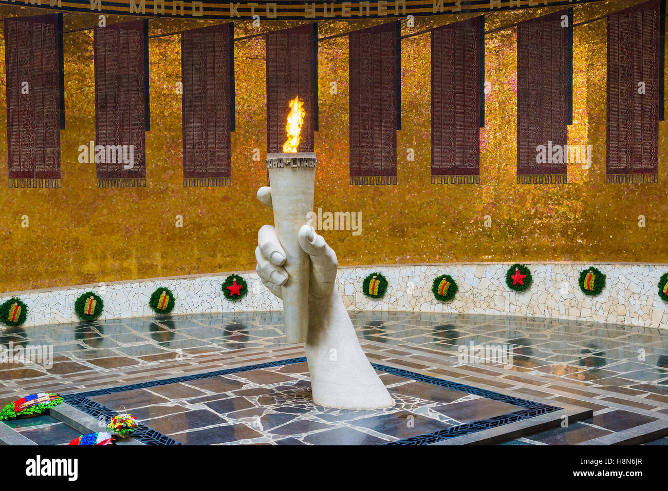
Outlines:
<svg viewBox="0 0 668 491"><path fill-rule="evenodd" d="M490 428L501 432L506 424L560 409L375 367L395 402L391 408L341 410L315 404L305 358L66 395L65 402L96 418L125 406L142 422L136 434L140 441L194 445L429 444Z"/></svg>

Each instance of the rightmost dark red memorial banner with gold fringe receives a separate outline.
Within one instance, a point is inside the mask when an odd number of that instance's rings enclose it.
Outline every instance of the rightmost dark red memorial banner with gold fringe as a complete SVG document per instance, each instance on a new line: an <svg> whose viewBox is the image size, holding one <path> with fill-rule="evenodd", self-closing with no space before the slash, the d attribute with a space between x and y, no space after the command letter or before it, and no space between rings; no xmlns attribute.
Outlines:
<svg viewBox="0 0 668 491"><path fill-rule="evenodd" d="M607 17L606 182L659 181L660 9L651 0Z"/></svg>

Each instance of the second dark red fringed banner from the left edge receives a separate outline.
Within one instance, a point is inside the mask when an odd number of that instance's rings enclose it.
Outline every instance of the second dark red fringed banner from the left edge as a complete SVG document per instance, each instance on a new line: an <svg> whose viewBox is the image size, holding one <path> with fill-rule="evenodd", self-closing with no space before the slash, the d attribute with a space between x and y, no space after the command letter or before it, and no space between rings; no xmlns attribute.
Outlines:
<svg viewBox="0 0 668 491"><path fill-rule="evenodd" d="M94 29L98 187L146 185L148 21Z"/></svg>

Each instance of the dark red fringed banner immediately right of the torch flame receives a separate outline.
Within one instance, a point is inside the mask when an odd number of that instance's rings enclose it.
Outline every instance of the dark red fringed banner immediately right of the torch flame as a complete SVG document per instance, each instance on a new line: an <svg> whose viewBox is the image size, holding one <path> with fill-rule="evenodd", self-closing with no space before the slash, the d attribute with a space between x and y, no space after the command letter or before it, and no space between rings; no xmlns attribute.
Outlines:
<svg viewBox="0 0 668 491"><path fill-rule="evenodd" d="M348 35L350 183L397 183L401 35L390 22Z"/></svg>

